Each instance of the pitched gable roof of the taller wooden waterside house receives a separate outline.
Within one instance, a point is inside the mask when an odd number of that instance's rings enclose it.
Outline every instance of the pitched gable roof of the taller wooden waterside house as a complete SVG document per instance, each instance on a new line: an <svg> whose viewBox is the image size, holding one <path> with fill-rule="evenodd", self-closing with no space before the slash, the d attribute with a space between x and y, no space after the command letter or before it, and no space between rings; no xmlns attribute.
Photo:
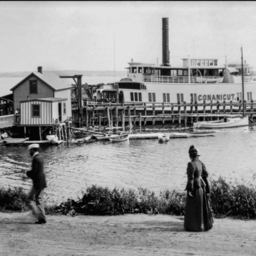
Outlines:
<svg viewBox="0 0 256 256"><path fill-rule="evenodd" d="M43 74L39 72L31 73L10 90L14 90L19 85L24 83L27 79L29 79L31 76L36 76L39 80L41 80L42 83L44 83L45 85L48 85L53 90L64 90L64 89L72 88L71 85L66 84L64 80L59 76L57 76L56 74L49 71L44 71Z"/></svg>

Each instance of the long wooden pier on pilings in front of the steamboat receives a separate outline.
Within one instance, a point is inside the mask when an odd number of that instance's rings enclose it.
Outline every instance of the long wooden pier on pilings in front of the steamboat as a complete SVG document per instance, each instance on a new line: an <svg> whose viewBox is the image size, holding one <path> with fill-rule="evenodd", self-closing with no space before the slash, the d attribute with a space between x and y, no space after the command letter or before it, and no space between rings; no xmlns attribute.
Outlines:
<svg viewBox="0 0 256 256"><path fill-rule="evenodd" d="M252 120L256 114L256 102L245 101L246 115ZM83 122L87 127L95 125L108 126L110 128L122 127L127 124L129 127L142 126L148 123L155 125L156 123L165 124L166 122L179 125L184 123L192 125L193 122L205 120L218 120L219 117L208 117L211 114L242 114L242 101L240 102L210 102L206 103L108 103L97 104L87 103L83 111ZM223 115L223 117L224 117ZM83 126L81 124L81 126Z"/></svg>

